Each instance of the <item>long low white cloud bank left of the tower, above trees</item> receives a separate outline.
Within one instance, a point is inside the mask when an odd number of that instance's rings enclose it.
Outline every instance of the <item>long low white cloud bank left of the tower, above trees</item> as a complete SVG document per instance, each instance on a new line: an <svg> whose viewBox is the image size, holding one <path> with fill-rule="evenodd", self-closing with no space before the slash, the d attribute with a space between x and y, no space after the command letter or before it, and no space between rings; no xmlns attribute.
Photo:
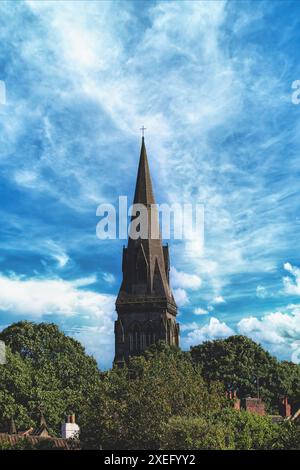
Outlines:
<svg viewBox="0 0 300 470"><path fill-rule="evenodd" d="M115 297L87 290L96 278L27 279L0 275L0 312L12 321L59 321L66 334L82 342L100 367L113 360ZM78 324L78 326L74 326Z"/></svg>

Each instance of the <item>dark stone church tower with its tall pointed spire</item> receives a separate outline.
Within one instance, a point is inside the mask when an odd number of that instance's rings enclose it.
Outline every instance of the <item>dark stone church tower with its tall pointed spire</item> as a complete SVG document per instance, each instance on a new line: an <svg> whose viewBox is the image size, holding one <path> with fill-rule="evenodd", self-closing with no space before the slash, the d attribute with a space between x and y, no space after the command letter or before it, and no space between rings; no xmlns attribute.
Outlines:
<svg viewBox="0 0 300 470"><path fill-rule="evenodd" d="M129 235L127 248L123 248L123 280L116 301L114 363L117 365L159 340L179 345L177 306L169 284L169 248L162 244L144 137L134 204L143 204L148 223L146 236L140 227L142 237L135 239Z"/></svg>

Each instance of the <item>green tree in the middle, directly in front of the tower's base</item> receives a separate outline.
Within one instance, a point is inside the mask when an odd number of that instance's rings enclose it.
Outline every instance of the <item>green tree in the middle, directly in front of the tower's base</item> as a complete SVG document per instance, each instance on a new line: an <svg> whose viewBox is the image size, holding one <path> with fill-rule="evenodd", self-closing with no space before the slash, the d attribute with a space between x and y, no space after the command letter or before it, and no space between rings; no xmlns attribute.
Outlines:
<svg viewBox="0 0 300 470"><path fill-rule="evenodd" d="M158 449L172 416L208 416L221 410L223 396L187 353L160 344L106 374L82 438L90 447Z"/></svg>

